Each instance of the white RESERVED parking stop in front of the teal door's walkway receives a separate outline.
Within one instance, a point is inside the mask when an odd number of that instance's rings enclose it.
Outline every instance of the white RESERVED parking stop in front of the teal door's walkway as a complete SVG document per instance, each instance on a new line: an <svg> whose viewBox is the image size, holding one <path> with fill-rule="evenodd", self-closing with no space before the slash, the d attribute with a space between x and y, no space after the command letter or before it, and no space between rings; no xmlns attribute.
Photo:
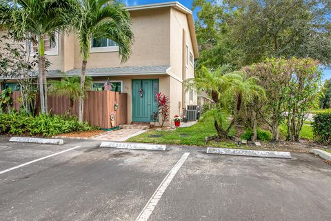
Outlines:
<svg viewBox="0 0 331 221"><path fill-rule="evenodd" d="M102 142L100 147L123 148L131 150L147 150L147 151L165 151L165 145L159 144L139 144L126 142Z"/></svg>

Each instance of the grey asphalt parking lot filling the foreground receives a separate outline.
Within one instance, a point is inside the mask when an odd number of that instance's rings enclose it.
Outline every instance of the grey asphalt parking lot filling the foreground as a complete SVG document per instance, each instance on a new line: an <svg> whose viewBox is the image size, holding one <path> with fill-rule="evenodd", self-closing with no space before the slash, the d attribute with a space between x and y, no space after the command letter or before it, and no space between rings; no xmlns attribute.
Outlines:
<svg viewBox="0 0 331 221"><path fill-rule="evenodd" d="M331 217L331 166L309 154L285 160L179 146L165 152L99 148L97 140L63 146L8 140L0 137L0 173L79 147L1 173L0 220L136 220L144 211L148 220Z"/></svg>

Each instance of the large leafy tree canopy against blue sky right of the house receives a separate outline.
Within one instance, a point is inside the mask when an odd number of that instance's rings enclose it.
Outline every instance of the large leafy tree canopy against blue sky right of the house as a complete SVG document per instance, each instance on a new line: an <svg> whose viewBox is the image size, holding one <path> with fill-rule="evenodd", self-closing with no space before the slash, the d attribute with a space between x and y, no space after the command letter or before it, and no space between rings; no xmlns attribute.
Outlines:
<svg viewBox="0 0 331 221"><path fill-rule="evenodd" d="M328 0L195 0L196 7L201 8L195 24L201 44L198 64L217 68L267 57L310 57L331 66Z"/></svg>

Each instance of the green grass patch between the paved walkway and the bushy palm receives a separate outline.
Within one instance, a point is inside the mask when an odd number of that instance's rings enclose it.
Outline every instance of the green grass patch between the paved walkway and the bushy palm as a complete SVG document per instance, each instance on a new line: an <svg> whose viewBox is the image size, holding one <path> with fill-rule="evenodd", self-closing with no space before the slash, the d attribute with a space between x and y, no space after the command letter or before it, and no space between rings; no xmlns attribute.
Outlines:
<svg viewBox="0 0 331 221"><path fill-rule="evenodd" d="M234 133L234 130L232 130L232 133ZM194 146L237 146L234 142L209 142L205 144L205 137L216 134L213 124L198 122L190 127L177 128L175 131L147 131L136 137L131 137L128 142Z"/></svg>

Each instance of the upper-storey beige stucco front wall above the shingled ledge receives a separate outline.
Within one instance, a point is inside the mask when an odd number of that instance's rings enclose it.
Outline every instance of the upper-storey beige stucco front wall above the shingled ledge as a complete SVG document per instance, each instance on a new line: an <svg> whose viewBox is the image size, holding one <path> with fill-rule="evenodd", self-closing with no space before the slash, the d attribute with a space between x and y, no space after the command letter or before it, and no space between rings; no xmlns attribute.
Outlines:
<svg viewBox="0 0 331 221"><path fill-rule="evenodd" d="M170 64L170 8L130 11L134 44L130 59L121 64L118 52L92 52L88 68L157 66ZM74 68L81 67L79 45L74 44Z"/></svg>

